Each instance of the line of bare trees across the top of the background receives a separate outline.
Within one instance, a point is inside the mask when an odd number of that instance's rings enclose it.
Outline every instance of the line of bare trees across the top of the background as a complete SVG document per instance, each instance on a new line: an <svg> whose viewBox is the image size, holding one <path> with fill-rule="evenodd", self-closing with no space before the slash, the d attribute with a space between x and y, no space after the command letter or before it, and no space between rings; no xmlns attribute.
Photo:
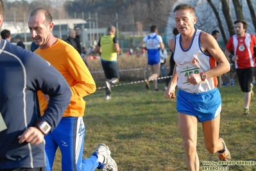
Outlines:
<svg viewBox="0 0 256 171"><path fill-rule="evenodd" d="M32 1L8 1L3 0L5 6L5 20L13 20L15 15L16 21L24 21L23 16L28 17L29 13L38 7L49 10L53 19L77 18L85 20L94 20L95 14L98 13L99 28L106 28L109 24L115 24L119 21L120 31L149 31L151 25L157 25L160 35L169 25L168 19L173 15L173 6L177 3L188 3L198 5L200 2L207 2L209 8L214 14L209 20L216 21L216 24L208 25L219 28L223 41L227 42L231 35L235 34L234 20L244 20L244 6L248 6L250 20L256 30L255 1L252 0L32 0ZM194 3L193 3L194 2ZM254 4L253 4L254 3ZM254 7L253 7L254 5ZM209 10L205 9L205 12ZM232 17L230 10L234 9L235 18ZM116 14L118 13L118 18ZM68 16L67 16L68 14ZM91 14L91 15L90 15ZM82 16L83 15L83 16ZM222 19L221 16L224 16ZM248 17L248 16L246 16ZM203 29L207 19L198 22L198 28Z"/></svg>

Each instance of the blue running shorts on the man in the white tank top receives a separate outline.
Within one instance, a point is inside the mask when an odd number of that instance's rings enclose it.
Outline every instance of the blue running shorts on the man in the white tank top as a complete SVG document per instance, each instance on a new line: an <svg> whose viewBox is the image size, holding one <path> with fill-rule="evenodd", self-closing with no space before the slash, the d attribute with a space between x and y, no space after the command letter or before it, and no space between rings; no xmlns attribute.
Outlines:
<svg viewBox="0 0 256 171"><path fill-rule="evenodd" d="M199 122L212 120L221 113L221 94L218 88L198 94L178 90L176 109L198 118Z"/></svg>

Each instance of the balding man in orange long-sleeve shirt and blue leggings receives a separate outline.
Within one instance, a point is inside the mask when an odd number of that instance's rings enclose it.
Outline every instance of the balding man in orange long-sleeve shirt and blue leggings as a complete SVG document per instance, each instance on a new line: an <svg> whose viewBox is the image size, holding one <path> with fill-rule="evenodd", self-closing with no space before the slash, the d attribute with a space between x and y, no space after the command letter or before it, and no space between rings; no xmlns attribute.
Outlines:
<svg viewBox="0 0 256 171"><path fill-rule="evenodd" d="M114 159L110 156L107 145L100 143L92 156L82 159L83 142L85 138L85 124L83 114L85 101L83 97L96 91L96 84L80 54L72 45L56 38L53 31L53 17L44 8L37 8L28 17L30 34L39 48L35 53L49 61L66 79L71 88L71 102L56 129L45 136L47 165L51 170L56 149L62 152L62 170L117 170ZM49 95L38 93L41 114L47 107Z"/></svg>

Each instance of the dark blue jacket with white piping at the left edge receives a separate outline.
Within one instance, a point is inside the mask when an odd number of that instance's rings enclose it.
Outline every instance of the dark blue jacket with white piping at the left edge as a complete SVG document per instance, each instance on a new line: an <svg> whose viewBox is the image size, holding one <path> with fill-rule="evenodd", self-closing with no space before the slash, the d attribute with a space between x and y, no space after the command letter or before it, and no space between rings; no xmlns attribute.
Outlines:
<svg viewBox="0 0 256 171"><path fill-rule="evenodd" d="M37 91L50 96L40 117ZM52 130L70 102L71 90L58 70L31 51L6 40L0 43L0 112L7 129L0 131L0 168L46 166L44 143L19 143L18 136L38 120ZM52 131L51 130L51 131Z"/></svg>

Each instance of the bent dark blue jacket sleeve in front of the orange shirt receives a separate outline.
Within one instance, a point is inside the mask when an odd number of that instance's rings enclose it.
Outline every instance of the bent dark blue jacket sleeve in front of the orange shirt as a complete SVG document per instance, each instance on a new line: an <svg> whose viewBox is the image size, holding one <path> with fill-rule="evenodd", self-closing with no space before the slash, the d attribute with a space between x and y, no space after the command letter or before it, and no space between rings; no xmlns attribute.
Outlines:
<svg viewBox="0 0 256 171"><path fill-rule="evenodd" d="M52 130L60 122L67 105L71 99L71 90L67 81L62 74L58 72L49 62L42 59L37 54L28 56L26 61L26 67L36 72L29 72L28 88L30 90L41 90L44 94L50 96L47 109L44 111L44 115L38 120L44 120L51 126ZM39 110L38 110L39 112Z"/></svg>

